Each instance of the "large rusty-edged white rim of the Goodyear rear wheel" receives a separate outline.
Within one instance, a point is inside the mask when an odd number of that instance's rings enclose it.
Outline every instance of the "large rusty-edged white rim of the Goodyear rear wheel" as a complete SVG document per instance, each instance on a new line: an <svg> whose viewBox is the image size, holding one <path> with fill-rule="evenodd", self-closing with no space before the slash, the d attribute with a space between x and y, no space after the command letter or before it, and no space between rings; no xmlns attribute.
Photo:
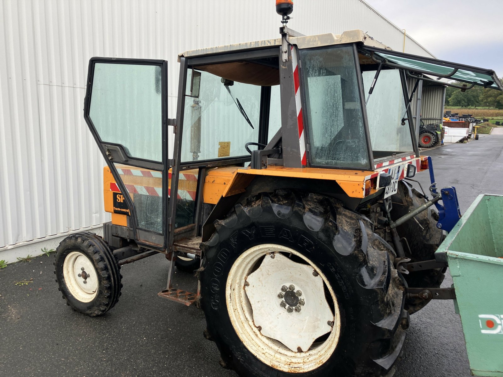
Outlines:
<svg viewBox="0 0 503 377"><path fill-rule="evenodd" d="M275 257L271 258L271 254ZM303 263L285 256L290 254ZM333 312L326 302L323 282ZM281 306L286 298L280 299L278 294L282 286L290 285L295 286L293 292L301 291L297 298L305 297L304 305L298 305L300 312L287 312ZM337 347L341 317L336 295L316 265L291 248L263 244L243 252L229 271L225 294L230 321L240 340L259 360L275 369L308 372L325 363ZM291 295L289 298L291 303ZM326 333L326 339L312 344Z"/></svg>

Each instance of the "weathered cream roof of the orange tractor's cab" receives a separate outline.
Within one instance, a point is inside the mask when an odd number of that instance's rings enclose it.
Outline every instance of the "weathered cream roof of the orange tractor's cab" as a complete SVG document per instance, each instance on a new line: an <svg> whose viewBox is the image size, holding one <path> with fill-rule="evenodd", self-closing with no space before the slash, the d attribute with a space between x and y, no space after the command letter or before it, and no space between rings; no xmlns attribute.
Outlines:
<svg viewBox="0 0 503 377"><path fill-rule="evenodd" d="M348 30L342 34L326 33L326 34L305 35L298 37L290 36L288 38L288 41L292 44L297 45L299 48L321 47L321 46L337 45L342 43L361 42L366 46L378 47L391 51L390 47L382 44L381 42L378 42L370 35L364 33L362 30ZM181 57L196 57L203 55L221 54L226 52L257 50L261 48L268 48L274 46L281 46L281 38L265 39L262 41L243 42L231 45L222 45L216 47L207 47L196 50L189 50L179 54L178 59L180 61Z"/></svg>

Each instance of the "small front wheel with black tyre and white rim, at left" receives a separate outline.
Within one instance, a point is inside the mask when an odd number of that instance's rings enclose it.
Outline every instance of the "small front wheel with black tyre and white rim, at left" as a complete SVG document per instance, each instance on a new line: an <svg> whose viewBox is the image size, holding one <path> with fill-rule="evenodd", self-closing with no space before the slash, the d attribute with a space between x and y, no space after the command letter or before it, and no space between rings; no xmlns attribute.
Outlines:
<svg viewBox="0 0 503 377"><path fill-rule="evenodd" d="M87 232L69 235L57 247L55 258L59 291L73 310L95 317L117 304L122 275L101 237Z"/></svg>

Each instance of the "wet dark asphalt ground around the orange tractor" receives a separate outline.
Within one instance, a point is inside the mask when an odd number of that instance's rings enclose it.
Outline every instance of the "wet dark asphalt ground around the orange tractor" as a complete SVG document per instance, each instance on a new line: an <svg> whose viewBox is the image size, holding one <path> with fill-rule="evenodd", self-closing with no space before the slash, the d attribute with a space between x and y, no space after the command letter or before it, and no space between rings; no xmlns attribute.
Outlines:
<svg viewBox="0 0 503 377"><path fill-rule="evenodd" d="M439 187L456 186L461 211L478 194L503 194L503 135L424 150ZM416 175L428 190L428 172ZM124 265L122 296L107 314L90 318L61 299L53 258L43 255L0 269L0 376L236 376L219 363L203 338L205 319L195 307L157 297L167 279L163 255ZM195 289L177 272L176 282ZM15 281L30 281L17 286ZM443 286L449 287L448 275ZM411 316L395 377L468 377L459 316L452 301L433 301Z"/></svg>

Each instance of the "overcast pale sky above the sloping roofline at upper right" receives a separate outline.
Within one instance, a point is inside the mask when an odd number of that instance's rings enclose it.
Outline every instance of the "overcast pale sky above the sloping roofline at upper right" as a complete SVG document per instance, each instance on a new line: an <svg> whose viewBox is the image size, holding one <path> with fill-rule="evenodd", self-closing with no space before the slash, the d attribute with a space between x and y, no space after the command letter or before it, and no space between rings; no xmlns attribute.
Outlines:
<svg viewBox="0 0 503 377"><path fill-rule="evenodd" d="M503 76L503 0L365 0L439 59Z"/></svg>

